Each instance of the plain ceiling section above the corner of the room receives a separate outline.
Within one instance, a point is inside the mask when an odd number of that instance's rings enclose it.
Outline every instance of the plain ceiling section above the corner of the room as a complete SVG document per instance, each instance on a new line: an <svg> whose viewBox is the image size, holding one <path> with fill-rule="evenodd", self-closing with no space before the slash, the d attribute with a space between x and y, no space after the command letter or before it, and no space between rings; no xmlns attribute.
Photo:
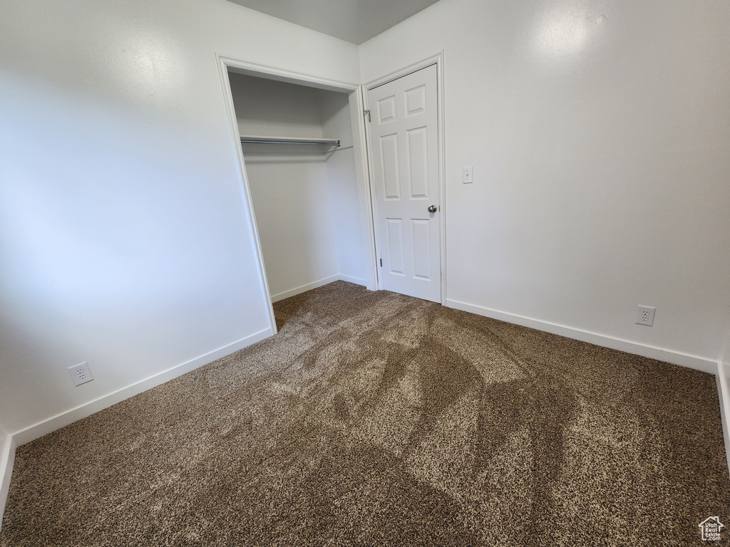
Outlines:
<svg viewBox="0 0 730 547"><path fill-rule="evenodd" d="M314 31L362 44L437 0L230 0Z"/></svg>

